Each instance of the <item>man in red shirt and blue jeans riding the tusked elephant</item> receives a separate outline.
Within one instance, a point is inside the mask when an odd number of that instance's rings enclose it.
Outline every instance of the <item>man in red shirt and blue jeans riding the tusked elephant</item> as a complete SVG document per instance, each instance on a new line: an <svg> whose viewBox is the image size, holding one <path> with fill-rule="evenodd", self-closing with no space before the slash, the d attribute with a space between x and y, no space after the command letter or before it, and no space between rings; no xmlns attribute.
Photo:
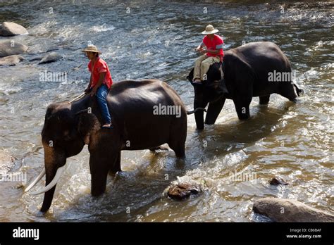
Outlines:
<svg viewBox="0 0 334 245"><path fill-rule="evenodd" d="M100 51L97 50L97 46L88 45L86 49L82 50L89 58L88 70L91 73L90 80L85 93L90 93L90 96L97 96L97 103L101 110L102 118L104 118L104 125L102 127L112 128L111 116L109 108L106 103L106 96L109 93L113 80L106 61L99 58Z"/></svg>

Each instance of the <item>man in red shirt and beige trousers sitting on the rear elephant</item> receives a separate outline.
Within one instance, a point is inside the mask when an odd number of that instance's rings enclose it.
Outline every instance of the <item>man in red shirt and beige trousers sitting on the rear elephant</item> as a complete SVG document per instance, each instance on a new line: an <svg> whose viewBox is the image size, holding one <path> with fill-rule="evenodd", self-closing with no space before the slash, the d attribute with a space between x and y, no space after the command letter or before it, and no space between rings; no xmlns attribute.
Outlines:
<svg viewBox="0 0 334 245"><path fill-rule="evenodd" d="M207 25L205 31L202 34L206 36L203 38L202 44L199 44L196 51L199 51L202 56L199 56L194 64L194 83L201 83L206 80L206 73L208 72L210 65L215 62L223 61L223 39L217 34L217 29L212 25ZM206 49L203 47L206 46Z"/></svg>

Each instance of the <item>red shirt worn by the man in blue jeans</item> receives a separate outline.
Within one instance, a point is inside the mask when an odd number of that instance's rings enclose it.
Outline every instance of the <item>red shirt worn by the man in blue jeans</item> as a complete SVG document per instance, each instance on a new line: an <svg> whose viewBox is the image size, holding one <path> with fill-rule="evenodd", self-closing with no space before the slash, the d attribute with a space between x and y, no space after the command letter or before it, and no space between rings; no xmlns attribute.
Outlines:
<svg viewBox="0 0 334 245"><path fill-rule="evenodd" d="M94 87L97 82L99 82L99 73L106 73L104 76L103 83L106 84L106 87L110 89L111 84L113 84L113 80L111 79L111 74L106 61L97 57L97 61L94 63L94 70L92 71L92 61L88 63L88 70L92 73L92 85L91 88Z"/></svg>

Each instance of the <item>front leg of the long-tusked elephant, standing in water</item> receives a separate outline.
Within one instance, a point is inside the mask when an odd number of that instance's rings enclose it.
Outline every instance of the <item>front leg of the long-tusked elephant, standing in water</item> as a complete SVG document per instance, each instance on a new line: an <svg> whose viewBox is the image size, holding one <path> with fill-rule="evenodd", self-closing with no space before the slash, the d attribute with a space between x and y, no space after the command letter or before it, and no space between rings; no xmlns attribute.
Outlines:
<svg viewBox="0 0 334 245"><path fill-rule="evenodd" d="M99 196L106 191L106 178L110 169L110 162L114 163L118 157L118 152L112 152L110 154L99 152L91 153L89 158L91 180L91 193L92 196Z"/></svg>

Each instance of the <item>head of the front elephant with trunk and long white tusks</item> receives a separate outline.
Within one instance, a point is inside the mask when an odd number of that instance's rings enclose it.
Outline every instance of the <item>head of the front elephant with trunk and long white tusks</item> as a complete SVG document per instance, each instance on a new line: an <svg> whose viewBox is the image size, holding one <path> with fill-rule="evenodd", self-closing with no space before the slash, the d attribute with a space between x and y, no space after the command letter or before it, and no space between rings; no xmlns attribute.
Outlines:
<svg viewBox="0 0 334 245"><path fill-rule="evenodd" d="M46 186L32 194L44 193L41 211L46 212L61 177L66 158L75 156L85 144L89 144L92 135L99 130L100 123L94 113L86 110L73 110L71 103L54 103L47 108L44 127L42 130L42 144L44 148L44 170L37 179L29 184L25 191L29 191L46 175Z"/></svg>

